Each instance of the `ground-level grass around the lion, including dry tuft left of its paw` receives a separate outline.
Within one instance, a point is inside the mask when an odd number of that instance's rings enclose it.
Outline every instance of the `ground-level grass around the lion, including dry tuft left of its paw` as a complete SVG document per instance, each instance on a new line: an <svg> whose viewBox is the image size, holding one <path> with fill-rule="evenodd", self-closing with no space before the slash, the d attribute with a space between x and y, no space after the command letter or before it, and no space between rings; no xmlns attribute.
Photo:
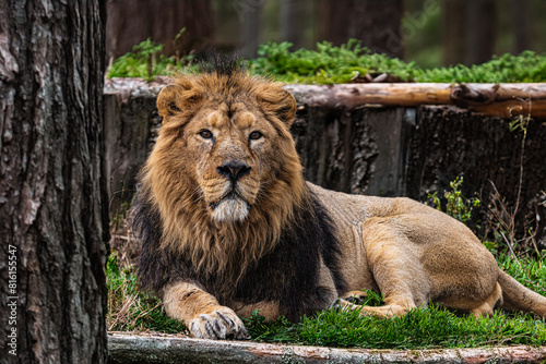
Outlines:
<svg viewBox="0 0 546 364"><path fill-rule="evenodd" d="M526 287L546 294L546 256L542 259L502 255L499 265ZM132 268L121 269L116 255L107 265L109 330L186 332L178 320L166 316L157 298L138 289ZM366 304L381 298L369 291ZM403 317L359 316L347 310L325 310L299 323L281 317L274 323L254 312L244 319L254 341L306 345L373 349L475 348L500 344L546 344L546 320L531 314L496 312L492 317L458 315L435 304L415 308Z"/></svg>

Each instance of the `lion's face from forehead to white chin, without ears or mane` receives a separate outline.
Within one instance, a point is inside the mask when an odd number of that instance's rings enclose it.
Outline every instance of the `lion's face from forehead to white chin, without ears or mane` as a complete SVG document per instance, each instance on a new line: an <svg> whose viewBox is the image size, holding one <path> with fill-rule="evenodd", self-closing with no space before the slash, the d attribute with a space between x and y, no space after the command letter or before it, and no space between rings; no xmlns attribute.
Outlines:
<svg viewBox="0 0 546 364"><path fill-rule="evenodd" d="M270 179L278 144L275 128L246 101L203 108L185 131L190 172L217 221L245 220Z"/></svg>

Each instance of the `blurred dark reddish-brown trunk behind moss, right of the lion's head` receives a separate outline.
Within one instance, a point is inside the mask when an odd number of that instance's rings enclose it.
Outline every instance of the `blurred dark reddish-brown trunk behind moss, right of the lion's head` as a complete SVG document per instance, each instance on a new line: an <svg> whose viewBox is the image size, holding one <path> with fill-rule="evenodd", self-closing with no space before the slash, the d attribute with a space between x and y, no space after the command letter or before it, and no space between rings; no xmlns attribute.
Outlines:
<svg viewBox="0 0 546 364"><path fill-rule="evenodd" d="M356 38L375 52L404 56L402 0L323 0L321 8L321 40Z"/></svg>

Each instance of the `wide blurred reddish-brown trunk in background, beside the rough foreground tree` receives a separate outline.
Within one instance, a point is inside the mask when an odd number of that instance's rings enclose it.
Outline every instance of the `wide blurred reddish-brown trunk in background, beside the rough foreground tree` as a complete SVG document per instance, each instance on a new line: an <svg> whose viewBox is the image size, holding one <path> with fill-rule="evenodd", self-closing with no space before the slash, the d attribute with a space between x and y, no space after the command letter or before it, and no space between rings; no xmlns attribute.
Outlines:
<svg viewBox="0 0 546 364"><path fill-rule="evenodd" d="M108 1L106 53L109 59L130 52L146 40L164 45L166 54L183 56L204 49L214 37L211 0ZM182 27L186 32L175 39Z"/></svg>

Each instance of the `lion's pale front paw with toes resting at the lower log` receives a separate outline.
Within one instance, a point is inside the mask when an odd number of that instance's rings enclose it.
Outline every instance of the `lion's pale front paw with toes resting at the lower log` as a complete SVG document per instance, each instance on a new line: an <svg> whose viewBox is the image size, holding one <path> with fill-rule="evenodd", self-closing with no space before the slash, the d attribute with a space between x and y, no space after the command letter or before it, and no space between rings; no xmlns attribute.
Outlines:
<svg viewBox="0 0 546 364"><path fill-rule="evenodd" d="M202 339L248 339L247 329L232 308L218 307L209 314L200 314L190 321L189 329Z"/></svg>

